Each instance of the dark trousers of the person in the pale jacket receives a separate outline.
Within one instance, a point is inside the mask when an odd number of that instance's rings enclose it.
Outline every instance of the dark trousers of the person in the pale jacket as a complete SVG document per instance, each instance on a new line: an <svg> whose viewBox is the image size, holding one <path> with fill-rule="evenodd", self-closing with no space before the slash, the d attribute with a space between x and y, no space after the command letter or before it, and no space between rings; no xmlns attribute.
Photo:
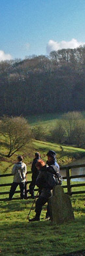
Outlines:
<svg viewBox="0 0 85 256"><path fill-rule="evenodd" d="M18 187L18 185L20 186L20 198L23 199L25 197L25 182L13 182L9 192L9 200L12 199L12 196L16 191L16 187Z"/></svg>

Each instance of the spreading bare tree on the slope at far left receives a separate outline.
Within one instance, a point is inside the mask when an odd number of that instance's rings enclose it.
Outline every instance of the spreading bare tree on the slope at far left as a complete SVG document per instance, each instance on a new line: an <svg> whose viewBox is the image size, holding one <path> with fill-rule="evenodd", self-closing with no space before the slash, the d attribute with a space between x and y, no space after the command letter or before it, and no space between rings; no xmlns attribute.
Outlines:
<svg viewBox="0 0 85 256"><path fill-rule="evenodd" d="M12 156L31 140L31 128L24 117L3 117L0 133L7 143L7 155L4 155L7 157Z"/></svg>

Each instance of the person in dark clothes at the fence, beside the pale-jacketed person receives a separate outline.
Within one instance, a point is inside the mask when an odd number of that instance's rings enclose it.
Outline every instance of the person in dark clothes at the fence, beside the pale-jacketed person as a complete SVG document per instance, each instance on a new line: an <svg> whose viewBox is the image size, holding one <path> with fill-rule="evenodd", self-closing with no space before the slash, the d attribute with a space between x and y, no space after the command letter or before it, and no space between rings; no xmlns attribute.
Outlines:
<svg viewBox="0 0 85 256"><path fill-rule="evenodd" d="M36 152L35 153L35 158L33 159L33 163L32 163L32 166L31 166L32 176L31 176L31 183L29 185L29 194L31 194L31 198L35 198L34 188L35 188L35 182L36 182L37 176L39 174L39 170L37 170L37 167L35 166L35 164L37 163L37 161L39 159L41 159L40 153Z"/></svg>

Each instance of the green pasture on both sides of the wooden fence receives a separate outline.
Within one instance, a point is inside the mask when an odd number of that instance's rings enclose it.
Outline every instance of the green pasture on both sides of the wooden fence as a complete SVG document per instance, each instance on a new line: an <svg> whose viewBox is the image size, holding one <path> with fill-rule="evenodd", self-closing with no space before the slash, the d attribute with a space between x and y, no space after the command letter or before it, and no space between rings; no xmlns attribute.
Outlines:
<svg viewBox="0 0 85 256"><path fill-rule="evenodd" d="M33 140L31 145L27 145L11 158L1 158L1 174L11 173L12 166L20 154L24 156L24 162L27 164L27 170L29 171L35 151L39 151L44 161L46 161L46 153L49 149L56 151L60 166L84 156L85 153L84 149L61 147L56 143ZM4 152L5 150L5 147L3 147ZM27 179L31 179L31 175ZM7 177L4 182L12 182L12 177L10 177L10 181ZM3 183L3 178L1 178L1 183ZM8 187L5 187L5 189L8 190ZM3 187L1 187L1 191L3 191ZM68 253L69 256L69 253L73 251L84 251L84 194L71 196L71 202L75 221L63 225L46 221L46 205L41 213L41 221L29 223L26 218L31 204L33 204L31 199L17 200L16 196L16 200L0 202L0 255L57 256ZM30 217L35 215L34 210L35 206Z"/></svg>

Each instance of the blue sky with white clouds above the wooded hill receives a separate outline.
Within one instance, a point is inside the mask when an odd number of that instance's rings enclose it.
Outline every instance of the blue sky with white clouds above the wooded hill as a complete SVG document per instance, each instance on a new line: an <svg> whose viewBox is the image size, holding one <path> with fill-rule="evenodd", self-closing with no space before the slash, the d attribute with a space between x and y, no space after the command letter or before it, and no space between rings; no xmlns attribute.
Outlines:
<svg viewBox="0 0 85 256"><path fill-rule="evenodd" d="M85 45L85 0L0 0L0 61Z"/></svg>

